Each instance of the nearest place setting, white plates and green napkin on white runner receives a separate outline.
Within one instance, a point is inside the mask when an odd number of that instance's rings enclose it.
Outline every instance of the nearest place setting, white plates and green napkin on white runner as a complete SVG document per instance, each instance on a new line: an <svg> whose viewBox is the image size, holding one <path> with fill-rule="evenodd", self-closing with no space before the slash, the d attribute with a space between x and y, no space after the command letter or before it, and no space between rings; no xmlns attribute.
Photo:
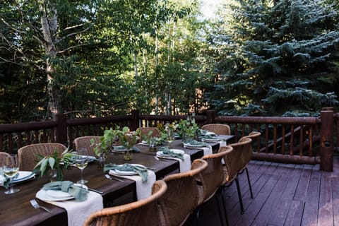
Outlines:
<svg viewBox="0 0 339 226"><path fill-rule="evenodd" d="M88 191L83 184L70 181L50 182L44 184L35 197L54 206L64 208L69 225L83 225L90 213L103 208L102 196Z"/></svg>

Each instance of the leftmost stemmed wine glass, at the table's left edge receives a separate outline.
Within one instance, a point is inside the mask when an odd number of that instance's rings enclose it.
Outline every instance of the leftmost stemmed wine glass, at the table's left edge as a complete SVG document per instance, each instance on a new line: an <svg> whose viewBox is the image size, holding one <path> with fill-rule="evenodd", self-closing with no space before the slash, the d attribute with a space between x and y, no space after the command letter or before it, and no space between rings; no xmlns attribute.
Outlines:
<svg viewBox="0 0 339 226"><path fill-rule="evenodd" d="M4 174L6 175L6 177L9 178L10 184L11 184L11 188L5 191L4 193L13 194L13 193L20 191L20 189L13 189L13 183L12 183L13 178L16 177L16 174L18 174L19 172L18 155L6 156L2 170Z"/></svg>

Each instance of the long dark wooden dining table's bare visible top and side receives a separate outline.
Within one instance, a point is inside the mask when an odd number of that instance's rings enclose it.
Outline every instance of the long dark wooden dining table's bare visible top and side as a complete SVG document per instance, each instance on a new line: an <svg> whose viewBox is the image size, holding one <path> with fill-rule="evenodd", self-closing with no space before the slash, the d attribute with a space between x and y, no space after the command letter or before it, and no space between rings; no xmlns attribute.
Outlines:
<svg viewBox="0 0 339 226"><path fill-rule="evenodd" d="M218 143L210 144L213 150L218 148ZM150 152L148 147L138 145L141 153L133 153L133 159L124 160L122 153L109 153L106 163L115 164L137 163L145 167L153 168L156 179L162 179L167 174L179 172L179 162L172 159L156 159L155 152ZM172 143L172 148L184 150L191 156L191 161L203 156L203 150L195 148L188 149L182 146L181 140ZM64 180L76 182L81 177L80 169L69 167L64 169ZM84 179L88 180L86 186L102 192L103 206L117 206L124 203L136 201L136 182L131 179L123 179L119 182L115 179L106 179L102 169L97 168L95 161L90 162L83 171ZM35 198L35 194L44 184L49 182L49 177L37 177L21 184L15 184L20 189L16 194L4 194L4 187L0 189L0 225L67 225L67 212L64 208L59 208L49 203L38 200L42 206L52 210L47 213L42 209L35 209L30 204L30 199Z"/></svg>

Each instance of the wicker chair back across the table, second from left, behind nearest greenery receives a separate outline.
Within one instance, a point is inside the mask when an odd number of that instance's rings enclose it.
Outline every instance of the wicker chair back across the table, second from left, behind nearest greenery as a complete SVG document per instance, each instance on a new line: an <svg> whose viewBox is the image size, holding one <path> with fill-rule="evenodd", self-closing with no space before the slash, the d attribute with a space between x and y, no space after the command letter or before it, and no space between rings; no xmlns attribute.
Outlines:
<svg viewBox="0 0 339 226"><path fill-rule="evenodd" d="M19 169L31 171L39 161L37 155L48 156L54 152L63 153L66 146L61 143L36 143L18 150Z"/></svg>

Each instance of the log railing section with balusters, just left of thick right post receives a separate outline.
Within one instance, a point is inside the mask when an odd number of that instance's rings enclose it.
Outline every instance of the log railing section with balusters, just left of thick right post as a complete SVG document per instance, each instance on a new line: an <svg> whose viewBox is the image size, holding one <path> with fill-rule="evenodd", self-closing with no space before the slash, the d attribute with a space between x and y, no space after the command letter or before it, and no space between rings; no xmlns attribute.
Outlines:
<svg viewBox="0 0 339 226"><path fill-rule="evenodd" d="M215 117L215 123L228 124L237 141L251 131L261 132L254 141L256 160L319 163L319 125L316 117ZM319 142L318 142L319 143Z"/></svg>

